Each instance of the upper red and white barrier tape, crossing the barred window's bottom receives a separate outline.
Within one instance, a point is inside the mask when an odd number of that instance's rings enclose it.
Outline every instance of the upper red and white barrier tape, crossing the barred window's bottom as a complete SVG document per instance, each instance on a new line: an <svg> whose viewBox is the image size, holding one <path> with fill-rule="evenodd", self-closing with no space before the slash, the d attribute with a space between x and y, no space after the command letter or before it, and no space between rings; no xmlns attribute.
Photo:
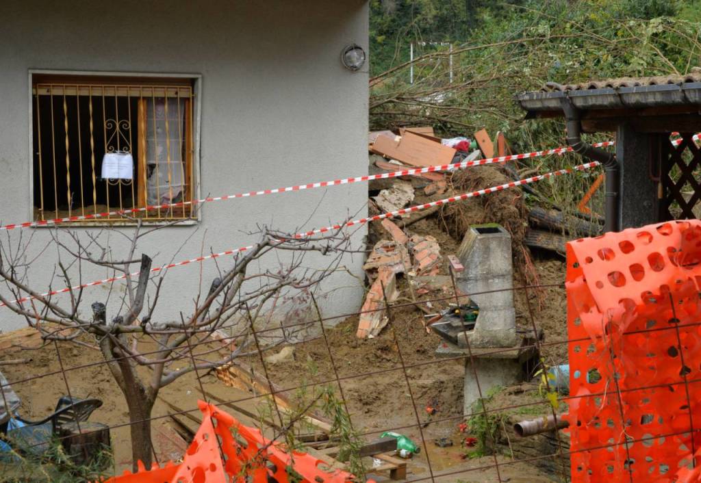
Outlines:
<svg viewBox="0 0 701 483"><path fill-rule="evenodd" d="M606 147L613 146L613 141L599 142L594 144L594 147ZM275 188L275 189L262 189L260 191L248 191L247 193L236 193L233 195L225 196L210 196L207 198L201 198L199 200L192 201L181 201L179 203L164 203L163 205L147 205L145 208L129 208L128 210L116 210L104 213L93 213L88 215L76 215L72 217L64 218L54 218L46 219L38 222L23 222L23 223L13 223L0 226L0 230L14 230L21 228L31 228L33 226L48 226L56 225L60 223L67 222L79 222L86 219L100 219L112 216L122 216L122 215L133 215L134 213L155 211L155 210L168 210L168 208L180 208L186 205L199 205L202 203L209 203L210 201L222 201L222 200L233 200L236 198L250 198L252 196L268 195L275 193L287 193L290 191L302 191L305 189L314 188L325 188L327 186L337 186L339 184L351 184L357 182L372 181L373 179L387 179L393 177L407 176L407 175L420 175L425 172L433 171L451 171L451 170L461 170L465 168L470 168L470 166L479 166L485 164L493 163L506 163L507 161L513 161L516 159L527 159L527 158L538 158L540 156L548 156L550 154L562 154L567 151L572 151L571 147L561 147L554 149L547 149L546 151L532 151L530 153L524 154L512 154L509 156L499 156L498 158L486 158L478 159L476 161L463 161L461 163L454 164L444 164L436 166L428 166L427 168L411 168L408 170L401 170L395 172L385 172L379 175L366 175L366 176L356 176L350 178L333 179L332 181L322 181L308 184L297 184L294 186L287 186L286 188Z"/></svg>

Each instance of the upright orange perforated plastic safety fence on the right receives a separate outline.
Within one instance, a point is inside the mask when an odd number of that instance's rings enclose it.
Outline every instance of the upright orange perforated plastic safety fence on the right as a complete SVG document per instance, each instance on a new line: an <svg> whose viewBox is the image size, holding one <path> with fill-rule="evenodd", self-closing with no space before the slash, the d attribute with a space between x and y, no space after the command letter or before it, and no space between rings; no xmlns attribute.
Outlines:
<svg viewBox="0 0 701 483"><path fill-rule="evenodd" d="M700 261L696 220L568 243L573 482L701 481Z"/></svg>

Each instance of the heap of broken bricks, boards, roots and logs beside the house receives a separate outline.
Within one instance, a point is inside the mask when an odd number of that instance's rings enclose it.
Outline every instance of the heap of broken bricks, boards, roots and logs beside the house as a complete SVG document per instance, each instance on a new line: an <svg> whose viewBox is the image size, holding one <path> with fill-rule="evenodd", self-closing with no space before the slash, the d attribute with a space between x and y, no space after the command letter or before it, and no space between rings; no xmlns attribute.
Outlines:
<svg viewBox="0 0 701 483"><path fill-rule="evenodd" d="M429 127L369 133L370 174L510 154L512 150L502 132L497 133L493 142L484 129L471 137L448 139L437 137ZM369 212L371 215L393 212L512 182L527 177L525 172L529 170L532 174L528 166L515 163L489 163L462 170L436 170L372 180ZM564 257L567 239L601 233L601 220L586 211L566 214L535 188L526 185L521 189L405 213L384 219L381 226L372 224L369 243L373 249L364 266L369 290L362 306L358 337L374 337L381 332L388 322L384 313L386 303L398 299L416 302L423 296L451 294L453 287L447 259L457 250L457 244L470 226L484 223L503 226L512 239L512 256L519 278L524 276L527 283L538 283L529 247ZM430 325L436 315L449 309L447 305L437 305L416 304L416 308L426 313L426 324Z"/></svg>

